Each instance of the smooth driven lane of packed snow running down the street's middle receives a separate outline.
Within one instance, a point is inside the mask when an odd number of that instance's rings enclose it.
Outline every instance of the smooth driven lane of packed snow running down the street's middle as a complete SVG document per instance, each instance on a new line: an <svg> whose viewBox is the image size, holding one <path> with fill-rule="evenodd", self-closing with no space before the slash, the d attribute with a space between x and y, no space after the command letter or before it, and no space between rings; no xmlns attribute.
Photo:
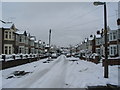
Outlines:
<svg viewBox="0 0 120 90"><path fill-rule="evenodd" d="M60 88L64 86L65 70L67 61L64 56L61 56L52 66L38 70L36 73L31 75L31 78L25 79L21 82L19 87L32 87L32 88ZM53 73L54 72L54 73ZM30 82L22 84L25 81L31 79ZM48 83L49 81L49 83ZM47 84L48 83L48 84Z"/></svg>

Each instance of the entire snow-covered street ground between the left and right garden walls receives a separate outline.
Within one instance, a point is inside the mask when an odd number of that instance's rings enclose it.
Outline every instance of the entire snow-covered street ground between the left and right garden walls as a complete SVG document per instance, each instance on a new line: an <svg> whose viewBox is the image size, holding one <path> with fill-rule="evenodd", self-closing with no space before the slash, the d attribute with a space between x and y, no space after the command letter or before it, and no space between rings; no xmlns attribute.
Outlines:
<svg viewBox="0 0 120 90"><path fill-rule="evenodd" d="M86 88L118 85L118 66L109 66L109 78L103 77L102 64L59 56L49 63L47 59L2 70L2 88ZM28 72L14 75L15 71Z"/></svg>

